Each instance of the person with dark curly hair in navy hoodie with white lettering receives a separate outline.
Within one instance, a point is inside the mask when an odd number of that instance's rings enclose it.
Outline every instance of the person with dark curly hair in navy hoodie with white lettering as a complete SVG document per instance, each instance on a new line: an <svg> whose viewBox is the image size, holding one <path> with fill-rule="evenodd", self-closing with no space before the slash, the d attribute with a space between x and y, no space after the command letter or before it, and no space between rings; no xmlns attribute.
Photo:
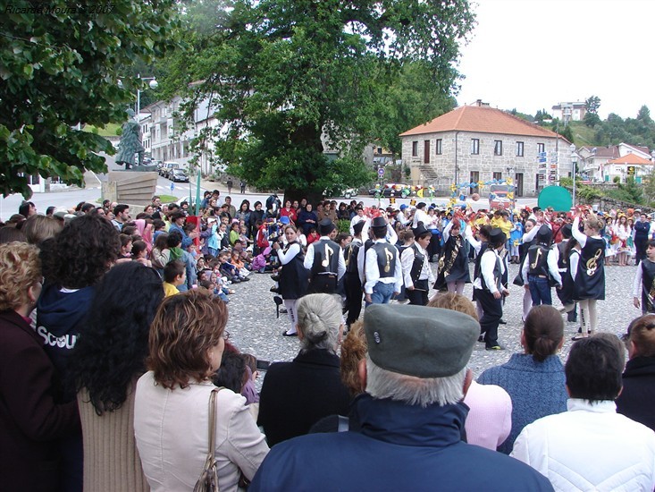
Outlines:
<svg viewBox="0 0 655 492"><path fill-rule="evenodd" d="M112 267L121 249L118 231L101 216L73 218L57 234L44 260L48 272L37 304L37 335L62 380L68 379L68 361L94 297L94 286ZM64 401L75 400L72 388ZM63 489L82 487L82 436L63 441Z"/></svg>

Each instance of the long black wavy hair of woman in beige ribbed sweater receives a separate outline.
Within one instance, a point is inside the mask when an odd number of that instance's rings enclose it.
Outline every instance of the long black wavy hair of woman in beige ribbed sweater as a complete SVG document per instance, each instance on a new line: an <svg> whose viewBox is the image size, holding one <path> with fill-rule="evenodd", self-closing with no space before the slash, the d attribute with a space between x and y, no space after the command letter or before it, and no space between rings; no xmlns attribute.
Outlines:
<svg viewBox="0 0 655 492"><path fill-rule="evenodd" d="M98 415L121 408L146 371L148 331L162 299L155 270L136 261L116 265L97 285L84 336L71 354L68 383L87 389Z"/></svg>

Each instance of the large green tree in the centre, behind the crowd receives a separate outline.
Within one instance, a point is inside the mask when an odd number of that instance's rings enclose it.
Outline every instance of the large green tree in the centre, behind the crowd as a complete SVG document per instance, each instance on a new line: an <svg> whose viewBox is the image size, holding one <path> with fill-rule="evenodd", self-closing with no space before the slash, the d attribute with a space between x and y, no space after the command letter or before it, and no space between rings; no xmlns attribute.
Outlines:
<svg viewBox="0 0 655 492"><path fill-rule="evenodd" d="M412 63L442 104L474 22L466 0L201 0L186 13L189 51L167 60L169 87L189 87L189 108L216 101L216 156L232 174L293 196L368 181L362 149L392 145L388 89Z"/></svg>

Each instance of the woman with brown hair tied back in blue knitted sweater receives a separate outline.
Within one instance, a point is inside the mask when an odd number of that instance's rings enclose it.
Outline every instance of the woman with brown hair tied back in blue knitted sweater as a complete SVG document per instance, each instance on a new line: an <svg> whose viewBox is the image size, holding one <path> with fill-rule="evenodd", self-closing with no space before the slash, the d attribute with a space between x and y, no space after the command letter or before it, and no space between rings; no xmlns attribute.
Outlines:
<svg viewBox="0 0 655 492"><path fill-rule="evenodd" d="M567 410L564 367L557 352L564 343L564 321L552 306L533 306L521 332L524 353L485 370L477 382L497 385L512 399L512 430L498 447L509 454L523 428L546 415Z"/></svg>

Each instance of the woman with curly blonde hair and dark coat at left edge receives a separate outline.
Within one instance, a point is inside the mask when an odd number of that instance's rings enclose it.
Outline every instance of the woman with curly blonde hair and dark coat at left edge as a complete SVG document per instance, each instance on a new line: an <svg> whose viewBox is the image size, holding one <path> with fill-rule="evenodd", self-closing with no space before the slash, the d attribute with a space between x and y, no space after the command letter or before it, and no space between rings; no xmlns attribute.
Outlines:
<svg viewBox="0 0 655 492"><path fill-rule="evenodd" d="M60 403L55 367L29 327L42 281L35 246L0 245L0 488L7 491L60 490L57 441L80 427L76 404Z"/></svg>

